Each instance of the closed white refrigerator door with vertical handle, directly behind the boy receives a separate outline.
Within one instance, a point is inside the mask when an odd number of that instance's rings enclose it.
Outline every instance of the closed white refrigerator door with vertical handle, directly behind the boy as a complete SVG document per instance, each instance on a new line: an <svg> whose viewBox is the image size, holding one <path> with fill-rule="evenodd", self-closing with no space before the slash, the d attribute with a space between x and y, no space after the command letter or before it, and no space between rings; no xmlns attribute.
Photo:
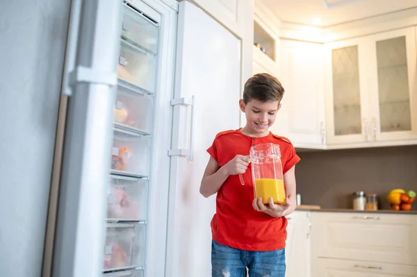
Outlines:
<svg viewBox="0 0 417 277"><path fill-rule="evenodd" d="M199 183L216 133L239 125L241 41L188 1L178 30L174 102L195 99L174 106L165 274L208 277L215 196L204 199Z"/></svg>

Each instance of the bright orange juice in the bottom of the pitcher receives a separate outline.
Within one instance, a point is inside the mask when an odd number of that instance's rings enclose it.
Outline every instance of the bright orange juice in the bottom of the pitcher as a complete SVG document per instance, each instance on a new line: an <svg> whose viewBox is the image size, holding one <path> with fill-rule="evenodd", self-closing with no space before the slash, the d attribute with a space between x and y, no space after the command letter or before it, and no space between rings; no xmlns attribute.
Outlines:
<svg viewBox="0 0 417 277"><path fill-rule="evenodd" d="M274 203L285 205L285 187L284 180L281 179L255 179L254 192L256 199L262 197L262 203L268 204L270 197Z"/></svg>

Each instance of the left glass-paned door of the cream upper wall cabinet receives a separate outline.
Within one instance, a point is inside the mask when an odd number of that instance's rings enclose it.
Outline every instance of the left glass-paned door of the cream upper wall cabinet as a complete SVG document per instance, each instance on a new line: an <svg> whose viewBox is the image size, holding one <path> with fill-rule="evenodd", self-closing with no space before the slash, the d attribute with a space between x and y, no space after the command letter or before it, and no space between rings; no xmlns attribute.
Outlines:
<svg viewBox="0 0 417 277"><path fill-rule="evenodd" d="M370 139L366 40L325 47L327 144L366 142Z"/></svg>

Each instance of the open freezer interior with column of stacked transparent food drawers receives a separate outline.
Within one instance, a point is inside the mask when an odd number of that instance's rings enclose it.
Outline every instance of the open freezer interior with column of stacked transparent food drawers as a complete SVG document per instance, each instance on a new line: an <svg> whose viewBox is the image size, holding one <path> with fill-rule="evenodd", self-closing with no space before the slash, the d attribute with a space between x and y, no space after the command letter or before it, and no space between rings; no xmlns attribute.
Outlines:
<svg viewBox="0 0 417 277"><path fill-rule="evenodd" d="M122 5L104 276L142 277L145 269L160 22L140 1Z"/></svg>

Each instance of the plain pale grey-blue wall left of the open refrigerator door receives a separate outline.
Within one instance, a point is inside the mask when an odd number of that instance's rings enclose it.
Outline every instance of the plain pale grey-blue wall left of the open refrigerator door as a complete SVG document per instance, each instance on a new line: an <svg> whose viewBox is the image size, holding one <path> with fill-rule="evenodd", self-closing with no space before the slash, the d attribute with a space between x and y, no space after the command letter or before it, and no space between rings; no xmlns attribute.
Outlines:
<svg viewBox="0 0 417 277"><path fill-rule="evenodd" d="M70 1L0 6L0 276L38 277Z"/></svg>

